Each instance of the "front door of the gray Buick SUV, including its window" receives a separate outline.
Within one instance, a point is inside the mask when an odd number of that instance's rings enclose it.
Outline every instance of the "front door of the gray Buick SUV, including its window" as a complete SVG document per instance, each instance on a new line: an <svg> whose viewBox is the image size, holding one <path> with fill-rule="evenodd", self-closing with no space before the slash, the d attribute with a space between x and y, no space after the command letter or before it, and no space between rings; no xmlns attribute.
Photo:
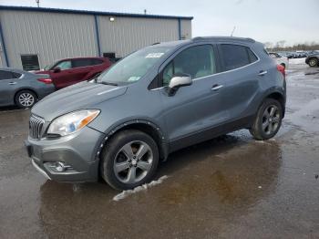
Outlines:
<svg viewBox="0 0 319 239"><path fill-rule="evenodd" d="M226 120L222 107L222 82L216 70L216 57L209 44L188 47L167 64L160 73L162 117L166 122L172 150L201 141L205 131ZM189 74L192 84L169 96L167 86L175 74ZM191 141L191 142L190 142Z"/></svg>

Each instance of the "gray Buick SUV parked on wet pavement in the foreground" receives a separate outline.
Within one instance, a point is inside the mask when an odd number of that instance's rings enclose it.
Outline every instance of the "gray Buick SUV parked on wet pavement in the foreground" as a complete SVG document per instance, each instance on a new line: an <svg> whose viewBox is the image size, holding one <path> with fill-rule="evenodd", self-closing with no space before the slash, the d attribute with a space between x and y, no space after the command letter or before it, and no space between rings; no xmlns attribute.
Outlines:
<svg viewBox="0 0 319 239"><path fill-rule="evenodd" d="M48 179L127 190L172 151L241 129L272 138L285 99L283 67L250 38L160 43L36 103L26 149Z"/></svg>

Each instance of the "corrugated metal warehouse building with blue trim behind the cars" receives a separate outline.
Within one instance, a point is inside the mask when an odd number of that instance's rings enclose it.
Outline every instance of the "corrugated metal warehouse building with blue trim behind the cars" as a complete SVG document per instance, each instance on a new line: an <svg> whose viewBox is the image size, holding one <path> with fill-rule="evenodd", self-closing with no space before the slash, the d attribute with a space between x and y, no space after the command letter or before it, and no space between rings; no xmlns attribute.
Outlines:
<svg viewBox="0 0 319 239"><path fill-rule="evenodd" d="M125 57L190 38L192 18L0 5L0 66L30 70L65 57Z"/></svg>

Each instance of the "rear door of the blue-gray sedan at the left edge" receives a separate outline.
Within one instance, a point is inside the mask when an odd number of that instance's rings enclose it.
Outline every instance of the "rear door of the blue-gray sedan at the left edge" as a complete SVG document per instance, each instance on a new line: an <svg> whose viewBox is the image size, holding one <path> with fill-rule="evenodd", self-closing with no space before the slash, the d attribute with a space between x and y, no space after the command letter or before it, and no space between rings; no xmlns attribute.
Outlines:
<svg viewBox="0 0 319 239"><path fill-rule="evenodd" d="M14 103L15 88L18 86L18 78L21 74L0 70L0 105Z"/></svg>

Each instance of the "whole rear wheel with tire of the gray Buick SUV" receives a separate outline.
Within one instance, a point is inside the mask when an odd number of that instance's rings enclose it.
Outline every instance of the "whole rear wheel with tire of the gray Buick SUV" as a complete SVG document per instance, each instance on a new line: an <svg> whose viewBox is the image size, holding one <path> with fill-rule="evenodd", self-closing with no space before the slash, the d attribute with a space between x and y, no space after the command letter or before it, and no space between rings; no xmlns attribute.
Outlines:
<svg viewBox="0 0 319 239"><path fill-rule="evenodd" d="M250 132L255 140L269 140L282 125L283 106L276 99L265 99L258 109Z"/></svg>

